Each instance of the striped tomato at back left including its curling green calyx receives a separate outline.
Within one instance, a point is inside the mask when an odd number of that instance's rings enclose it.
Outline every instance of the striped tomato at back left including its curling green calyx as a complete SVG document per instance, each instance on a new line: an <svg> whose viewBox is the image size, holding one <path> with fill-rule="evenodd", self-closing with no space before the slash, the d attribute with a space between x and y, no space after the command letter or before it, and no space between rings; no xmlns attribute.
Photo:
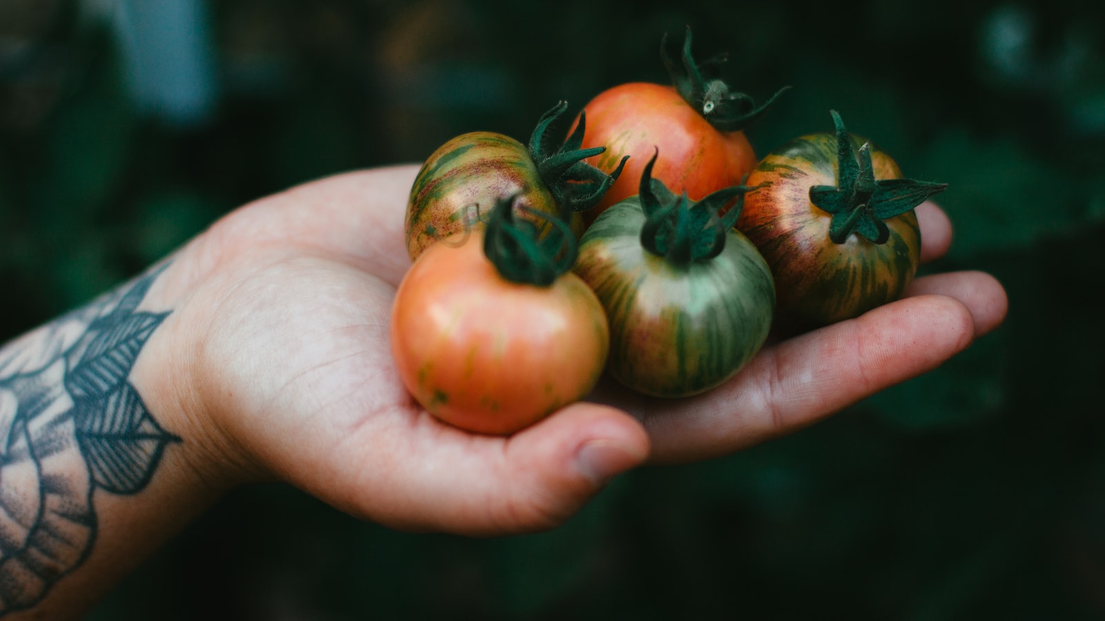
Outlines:
<svg viewBox="0 0 1105 621"><path fill-rule="evenodd" d="M602 197L621 168L611 167L607 175L581 161L604 150L580 149L586 117L559 149L551 147L550 128L567 108L560 102L545 113L528 146L503 134L471 131L438 147L422 164L407 203L411 260L438 240L483 225L491 207L508 196L518 197L519 214L564 215L581 234L579 212Z"/></svg>

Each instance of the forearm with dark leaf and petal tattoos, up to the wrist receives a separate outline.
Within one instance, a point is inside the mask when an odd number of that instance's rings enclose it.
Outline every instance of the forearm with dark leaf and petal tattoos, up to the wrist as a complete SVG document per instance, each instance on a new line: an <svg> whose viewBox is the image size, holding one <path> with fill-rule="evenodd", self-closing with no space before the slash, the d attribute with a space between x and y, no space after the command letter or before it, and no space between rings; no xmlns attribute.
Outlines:
<svg viewBox="0 0 1105 621"><path fill-rule="evenodd" d="M78 617L219 494L162 273L0 347L0 617Z"/></svg>

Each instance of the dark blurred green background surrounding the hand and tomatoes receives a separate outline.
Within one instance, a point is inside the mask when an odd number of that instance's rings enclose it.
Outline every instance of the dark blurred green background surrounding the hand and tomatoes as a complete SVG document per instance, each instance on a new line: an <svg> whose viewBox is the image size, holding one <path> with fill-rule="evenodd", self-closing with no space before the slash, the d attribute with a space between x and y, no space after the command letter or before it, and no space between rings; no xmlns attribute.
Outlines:
<svg viewBox="0 0 1105 621"><path fill-rule="evenodd" d="M88 619L1105 619L1099 2L0 0L0 341L252 199L666 82L686 24L738 90L793 86L759 152L835 108L950 183L927 270L998 276L1006 325L552 533L400 534L243 490Z"/></svg>

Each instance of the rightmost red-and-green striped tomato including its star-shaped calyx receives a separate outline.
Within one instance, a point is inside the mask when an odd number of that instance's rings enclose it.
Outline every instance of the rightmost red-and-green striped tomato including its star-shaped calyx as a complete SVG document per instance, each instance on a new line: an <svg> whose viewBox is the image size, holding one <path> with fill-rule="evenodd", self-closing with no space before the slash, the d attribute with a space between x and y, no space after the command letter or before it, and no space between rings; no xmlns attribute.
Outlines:
<svg viewBox="0 0 1105 621"><path fill-rule="evenodd" d="M947 187L902 179L888 155L832 117L835 133L796 138L759 162L737 220L771 266L780 322L796 328L899 297L920 256L913 208Z"/></svg>

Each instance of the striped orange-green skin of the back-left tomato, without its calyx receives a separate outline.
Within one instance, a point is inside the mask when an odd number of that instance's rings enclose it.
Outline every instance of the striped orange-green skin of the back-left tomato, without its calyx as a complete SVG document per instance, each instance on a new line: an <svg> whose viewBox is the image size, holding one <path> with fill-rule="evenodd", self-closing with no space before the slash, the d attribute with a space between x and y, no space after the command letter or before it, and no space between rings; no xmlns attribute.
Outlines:
<svg viewBox="0 0 1105 621"><path fill-rule="evenodd" d="M525 214L520 208L559 215L559 208L541 182L537 165L519 141L494 131L470 131L456 136L422 164L407 202L404 230L411 261L438 240L482 227L498 199L518 194L515 208L520 218L545 222ZM575 214L572 227L582 233L582 219Z"/></svg>

